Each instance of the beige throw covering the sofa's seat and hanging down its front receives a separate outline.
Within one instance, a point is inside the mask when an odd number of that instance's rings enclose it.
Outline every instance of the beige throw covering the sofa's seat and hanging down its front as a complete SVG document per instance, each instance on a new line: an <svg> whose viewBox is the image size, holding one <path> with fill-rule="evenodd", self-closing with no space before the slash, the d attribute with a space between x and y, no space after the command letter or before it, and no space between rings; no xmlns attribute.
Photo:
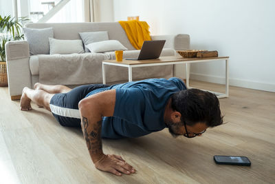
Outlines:
<svg viewBox="0 0 275 184"><path fill-rule="evenodd" d="M102 83L102 61L110 59L108 54L99 53L40 54L36 57L39 58L39 82L50 85ZM108 83L128 80L128 68L107 65L105 69ZM173 76L173 65L133 69L133 80L171 76Z"/></svg>

